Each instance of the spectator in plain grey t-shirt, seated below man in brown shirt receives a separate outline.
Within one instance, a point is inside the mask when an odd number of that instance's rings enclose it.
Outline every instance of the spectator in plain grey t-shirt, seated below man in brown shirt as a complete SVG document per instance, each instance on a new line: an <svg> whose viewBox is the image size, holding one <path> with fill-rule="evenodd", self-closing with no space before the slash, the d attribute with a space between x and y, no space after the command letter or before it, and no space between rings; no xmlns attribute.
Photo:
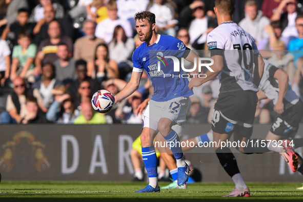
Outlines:
<svg viewBox="0 0 303 202"><path fill-rule="evenodd" d="M76 60L70 57L68 45L59 43L56 55L59 59L53 62L56 71L56 79L63 83L69 83L75 78Z"/></svg>

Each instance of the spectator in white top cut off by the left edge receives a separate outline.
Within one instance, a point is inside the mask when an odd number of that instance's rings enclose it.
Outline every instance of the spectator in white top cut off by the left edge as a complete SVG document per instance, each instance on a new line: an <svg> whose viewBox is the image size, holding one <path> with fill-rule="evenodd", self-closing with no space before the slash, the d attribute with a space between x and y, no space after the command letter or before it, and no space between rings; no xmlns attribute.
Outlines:
<svg viewBox="0 0 303 202"><path fill-rule="evenodd" d="M0 40L0 85L3 86L10 77L11 51L4 40Z"/></svg>

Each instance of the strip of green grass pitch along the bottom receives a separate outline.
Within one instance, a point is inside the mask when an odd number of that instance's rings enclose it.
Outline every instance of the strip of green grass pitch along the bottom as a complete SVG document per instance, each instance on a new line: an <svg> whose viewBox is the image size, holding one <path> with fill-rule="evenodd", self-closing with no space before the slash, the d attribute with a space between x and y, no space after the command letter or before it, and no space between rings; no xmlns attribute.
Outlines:
<svg viewBox="0 0 303 202"><path fill-rule="evenodd" d="M303 201L303 191L296 190L300 183L248 183L251 191L248 198L222 198L233 189L233 183L197 183L184 190L133 193L145 186L145 183L130 182L2 181L0 201Z"/></svg>

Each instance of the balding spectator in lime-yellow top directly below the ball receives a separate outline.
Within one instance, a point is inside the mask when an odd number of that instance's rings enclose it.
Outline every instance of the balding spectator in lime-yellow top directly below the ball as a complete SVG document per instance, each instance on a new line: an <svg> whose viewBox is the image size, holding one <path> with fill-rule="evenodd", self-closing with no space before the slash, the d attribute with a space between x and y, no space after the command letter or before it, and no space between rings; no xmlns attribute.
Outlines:
<svg viewBox="0 0 303 202"><path fill-rule="evenodd" d="M105 115L93 110L91 102L82 102L81 113L75 118L74 124L106 124Z"/></svg>

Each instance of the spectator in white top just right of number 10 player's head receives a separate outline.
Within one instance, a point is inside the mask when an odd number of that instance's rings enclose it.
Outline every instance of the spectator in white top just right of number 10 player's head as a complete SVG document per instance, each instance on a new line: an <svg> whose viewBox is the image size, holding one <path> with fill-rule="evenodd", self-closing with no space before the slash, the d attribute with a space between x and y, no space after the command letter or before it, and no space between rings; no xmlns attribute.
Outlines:
<svg viewBox="0 0 303 202"><path fill-rule="evenodd" d="M241 20L239 26L247 31L255 40L255 43L267 38L268 33L265 26L270 24L270 20L258 11L257 3L254 0L247 1L245 4L245 18Z"/></svg>

